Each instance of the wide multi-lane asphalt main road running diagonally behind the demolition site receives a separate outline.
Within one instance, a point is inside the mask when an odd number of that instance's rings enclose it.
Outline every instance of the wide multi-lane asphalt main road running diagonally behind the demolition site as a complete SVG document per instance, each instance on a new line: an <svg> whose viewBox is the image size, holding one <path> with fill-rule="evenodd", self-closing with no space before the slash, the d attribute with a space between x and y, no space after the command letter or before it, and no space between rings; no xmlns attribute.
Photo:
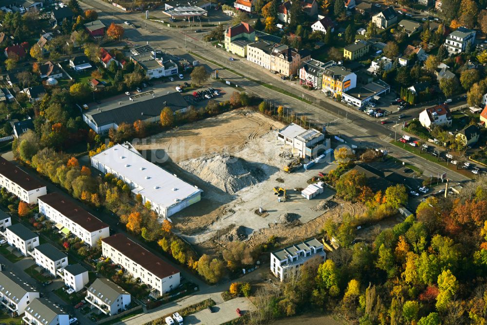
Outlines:
<svg viewBox="0 0 487 325"><path fill-rule="evenodd" d="M242 86L245 91L261 96L273 105L275 104L276 107L283 105L286 107L285 113L291 114L293 112L298 116L304 115L307 121L312 120L314 122L312 124L314 127L318 127L319 125L327 126L330 132L339 135L347 144L387 149L395 158L401 159L406 163L417 165L424 171L425 175L447 172L447 176L452 182L468 180L467 177L441 165L431 163L399 147L391 146L390 141L394 139L392 123L382 125L380 124L380 120L371 120L365 114L356 112L354 109L347 109L337 102L324 98L324 95L320 92L308 92L290 81L281 81L276 75L245 59L230 61L228 59L228 53L202 41L205 35L204 33L194 33L194 31L187 28L169 28L167 25L145 20L143 14L140 12L128 13L100 0L90 1L89 4L82 3L82 6L85 9L94 8L98 11L99 19L107 25L112 21L115 23L123 23L127 20L135 23L136 26L142 26L139 28L124 26L127 27L124 37L128 38L132 44L140 45L149 42L153 47L161 48L178 56L186 56L188 51L192 51L253 80L276 85L297 96L313 101L313 104L307 104L292 97L285 96L257 82L242 78L221 67L195 58L202 63L206 63L208 70L213 71L219 69L221 78ZM198 29L209 31L211 28L198 27Z"/></svg>

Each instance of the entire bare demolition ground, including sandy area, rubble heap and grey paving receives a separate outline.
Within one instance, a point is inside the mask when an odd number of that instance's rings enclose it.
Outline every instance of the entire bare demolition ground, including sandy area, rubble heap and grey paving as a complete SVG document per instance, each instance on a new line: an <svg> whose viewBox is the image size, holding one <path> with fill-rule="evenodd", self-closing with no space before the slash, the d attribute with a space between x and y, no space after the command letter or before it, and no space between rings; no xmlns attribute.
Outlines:
<svg viewBox="0 0 487 325"><path fill-rule="evenodd" d="M361 205L334 198L328 188L313 200L301 197L300 188L307 186L307 180L336 165L319 163L311 170L284 172L290 158L282 155L285 149L276 143L274 131L283 126L241 109L136 146L157 151L158 158L166 154L163 168L204 191L201 202L170 217L179 235L206 251L237 240L253 247L272 235L280 244L290 244L317 234L327 218L363 213ZM286 189L285 202L278 202L275 186ZM257 213L260 206L262 214Z"/></svg>

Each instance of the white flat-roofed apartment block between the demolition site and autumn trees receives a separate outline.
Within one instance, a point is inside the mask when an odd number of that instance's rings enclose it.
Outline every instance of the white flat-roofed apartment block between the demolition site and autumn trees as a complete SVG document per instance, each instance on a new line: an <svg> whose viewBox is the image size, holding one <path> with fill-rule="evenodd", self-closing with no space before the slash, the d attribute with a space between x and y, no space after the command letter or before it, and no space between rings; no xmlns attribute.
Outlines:
<svg viewBox="0 0 487 325"><path fill-rule="evenodd" d="M275 250L271 252L271 272L279 280L287 280L298 275L299 268L315 257L320 263L326 259L323 244L316 238Z"/></svg>

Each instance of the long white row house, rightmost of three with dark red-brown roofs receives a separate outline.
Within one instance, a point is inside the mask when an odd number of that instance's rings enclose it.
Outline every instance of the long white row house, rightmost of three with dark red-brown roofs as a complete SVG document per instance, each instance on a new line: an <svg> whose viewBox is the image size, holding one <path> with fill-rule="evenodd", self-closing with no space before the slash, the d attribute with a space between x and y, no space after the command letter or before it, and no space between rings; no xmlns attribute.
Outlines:
<svg viewBox="0 0 487 325"><path fill-rule="evenodd" d="M140 278L155 295L162 295L179 286L178 269L132 242L124 234L118 233L102 239L101 247L103 256L120 265L134 278Z"/></svg>

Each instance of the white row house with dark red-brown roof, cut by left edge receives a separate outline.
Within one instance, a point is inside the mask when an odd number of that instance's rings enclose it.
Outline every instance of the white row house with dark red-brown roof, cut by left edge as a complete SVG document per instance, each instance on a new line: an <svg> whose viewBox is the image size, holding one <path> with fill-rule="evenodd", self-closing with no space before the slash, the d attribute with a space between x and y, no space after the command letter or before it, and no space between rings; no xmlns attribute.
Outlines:
<svg viewBox="0 0 487 325"><path fill-rule="evenodd" d="M3 157L0 157L0 186L28 204L36 204L37 198L47 193L46 185Z"/></svg>

